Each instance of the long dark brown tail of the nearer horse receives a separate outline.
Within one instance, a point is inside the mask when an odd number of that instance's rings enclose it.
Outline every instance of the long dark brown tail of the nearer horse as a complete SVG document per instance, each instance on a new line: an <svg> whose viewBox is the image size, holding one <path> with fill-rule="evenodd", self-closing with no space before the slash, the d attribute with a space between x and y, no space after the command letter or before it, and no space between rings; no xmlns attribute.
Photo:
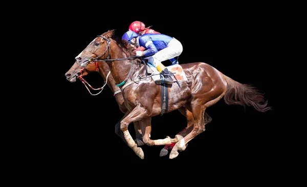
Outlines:
<svg viewBox="0 0 307 187"><path fill-rule="evenodd" d="M224 75L225 76L225 75ZM260 112L271 110L268 100L264 98L264 94L249 84L242 84L225 76L227 82L227 91L224 95L224 101L228 105L242 105L244 110L246 106L253 106Z"/></svg>

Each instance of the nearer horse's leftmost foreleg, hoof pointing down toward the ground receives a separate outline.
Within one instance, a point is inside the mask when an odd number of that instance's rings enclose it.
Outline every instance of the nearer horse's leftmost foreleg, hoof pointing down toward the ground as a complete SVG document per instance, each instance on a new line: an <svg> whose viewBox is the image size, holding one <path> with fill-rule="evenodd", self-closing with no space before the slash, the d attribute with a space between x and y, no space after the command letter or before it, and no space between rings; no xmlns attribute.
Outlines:
<svg viewBox="0 0 307 187"><path fill-rule="evenodd" d="M138 147L128 131L128 125L135 121L147 118L149 116L144 107L137 105L121 122L120 130L123 132L127 141L127 145L141 158L144 159L144 152L142 148Z"/></svg>

